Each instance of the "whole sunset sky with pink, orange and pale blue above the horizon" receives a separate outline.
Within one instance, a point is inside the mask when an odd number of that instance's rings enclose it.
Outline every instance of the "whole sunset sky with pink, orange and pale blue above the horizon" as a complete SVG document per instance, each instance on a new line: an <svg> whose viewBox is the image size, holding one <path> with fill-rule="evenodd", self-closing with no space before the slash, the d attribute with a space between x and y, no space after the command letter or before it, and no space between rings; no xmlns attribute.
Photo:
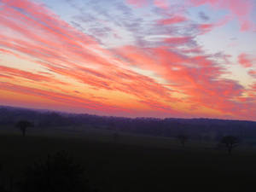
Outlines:
<svg viewBox="0 0 256 192"><path fill-rule="evenodd" d="M0 0L0 105L256 120L256 0Z"/></svg>

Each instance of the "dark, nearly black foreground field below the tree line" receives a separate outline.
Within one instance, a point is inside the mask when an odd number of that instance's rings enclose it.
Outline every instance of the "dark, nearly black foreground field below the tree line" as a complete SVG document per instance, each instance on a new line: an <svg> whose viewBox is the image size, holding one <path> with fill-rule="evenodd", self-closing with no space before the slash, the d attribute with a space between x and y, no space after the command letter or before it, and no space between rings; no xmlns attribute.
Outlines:
<svg viewBox="0 0 256 192"><path fill-rule="evenodd" d="M256 191L256 152L253 150L236 150L229 155L212 148L172 146L172 142L170 148L166 143L162 147L140 144L150 143L145 137L136 140L137 143L125 143L122 137L104 141L89 137L21 137L2 133L0 163L3 176L8 180L14 175L15 183L26 166L65 150L84 166L90 184L100 192Z"/></svg>

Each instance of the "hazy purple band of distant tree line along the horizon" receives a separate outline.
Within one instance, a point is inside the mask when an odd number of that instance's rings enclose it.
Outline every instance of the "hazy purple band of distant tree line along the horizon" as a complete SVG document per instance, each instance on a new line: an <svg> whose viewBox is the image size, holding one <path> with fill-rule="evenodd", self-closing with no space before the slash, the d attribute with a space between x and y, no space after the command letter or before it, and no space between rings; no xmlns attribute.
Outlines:
<svg viewBox="0 0 256 192"><path fill-rule="evenodd" d="M177 137L186 133L189 139L197 141L219 141L232 135L243 143L256 145L256 122L223 119L154 119L121 118L90 114L56 113L25 108L0 107L0 126L13 126L22 119L31 119L34 128L82 126L101 130L119 131L154 137Z"/></svg>

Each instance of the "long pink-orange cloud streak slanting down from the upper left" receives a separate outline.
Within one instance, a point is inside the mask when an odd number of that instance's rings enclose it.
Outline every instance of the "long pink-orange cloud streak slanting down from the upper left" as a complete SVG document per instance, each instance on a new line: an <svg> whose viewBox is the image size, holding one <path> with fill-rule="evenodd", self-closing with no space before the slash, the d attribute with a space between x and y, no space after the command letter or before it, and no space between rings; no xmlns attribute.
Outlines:
<svg viewBox="0 0 256 192"><path fill-rule="evenodd" d="M32 6L36 5L33 4ZM45 26L41 22L35 22L27 15L20 14L15 9L7 7L4 10L6 12L1 14L9 15L12 20L5 20L2 25L19 32L23 38L4 36L4 34L0 33L0 36L2 35L0 44L30 56L31 60L48 69L50 73L88 84L99 91L101 89L118 90L143 100L147 100L148 96L152 98L172 98L169 96L169 90L156 83L154 79L132 73L114 65L112 60L117 61L117 58L113 58L111 52L102 49L94 39L76 32L73 27L65 23L62 24L62 21L58 20L55 15L52 15L52 18L48 18L51 14L46 15L48 20L44 18L44 15L33 15L39 17L38 19L40 20L46 20L47 25ZM47 11L49 12L49 10ZM45 14L47 14L47 11L45 11ZM5 18L1 17L1 14L0 18ZM17 22L14 25L14 18L16 20L24 19L26 22ZM55 23L55 25L52 23ZM49 28L47 26L52 27ZM38 30L40 35L31 32L30 27L33 30ZM50 41L49 37L51 37ZM91 49L92 47L93 49ZM98 67L99 70L96 71L86 67L84 63L93 63L93 67ZM26 74L18 70L12 71L11 74L14 77L26 78ZM33 80L39 77L42 78L42 75L36 76L36 74L33 74L32 76L31 73L27 75L27 78ZM38 79L38 84L40 80ZM63 89L65 90L65 87Z"/></svg>

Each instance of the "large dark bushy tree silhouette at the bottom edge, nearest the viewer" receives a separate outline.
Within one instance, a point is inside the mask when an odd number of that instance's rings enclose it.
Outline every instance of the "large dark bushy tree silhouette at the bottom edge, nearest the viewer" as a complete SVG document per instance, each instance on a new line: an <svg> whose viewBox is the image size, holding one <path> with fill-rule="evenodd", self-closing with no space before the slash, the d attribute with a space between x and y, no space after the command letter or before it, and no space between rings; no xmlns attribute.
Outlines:
<svg viewBox="0 0 256 192"><path fill-rule="evenodd" d="M35 163L26 170L20 192L90 192L84 169L73 162L66 152L48 155L45 162Z"/></svg>

